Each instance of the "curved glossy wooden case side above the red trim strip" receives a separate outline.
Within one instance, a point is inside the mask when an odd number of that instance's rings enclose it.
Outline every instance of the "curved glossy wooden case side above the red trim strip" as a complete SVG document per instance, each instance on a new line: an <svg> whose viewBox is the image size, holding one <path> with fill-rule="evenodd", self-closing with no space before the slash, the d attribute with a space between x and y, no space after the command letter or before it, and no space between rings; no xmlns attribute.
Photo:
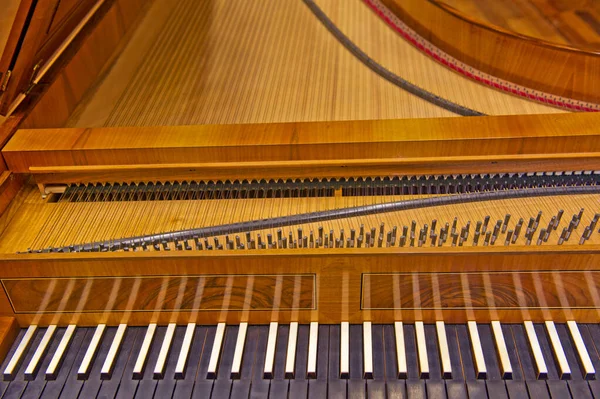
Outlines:
<svg viewBox="0 0 600 399"><path fill-rule="evenodd" d="M436 1L383 0L421 36L461 62L535 90L600 102L600 54L482 24Z"/></svg>

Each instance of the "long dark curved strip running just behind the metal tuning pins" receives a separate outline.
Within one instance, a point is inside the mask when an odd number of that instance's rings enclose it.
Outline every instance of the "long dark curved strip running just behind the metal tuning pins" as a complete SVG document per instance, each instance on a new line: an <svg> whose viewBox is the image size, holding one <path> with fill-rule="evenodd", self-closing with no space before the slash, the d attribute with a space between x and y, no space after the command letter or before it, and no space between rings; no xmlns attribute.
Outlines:
<svg viewBox="0 0 600 399"><path fill-rule="evenodd" d="M443 195L429 198L388 202L385 204L362 205L350 208L303 213L291 216L281 216L271 219L237 222L212 227L201 227L172 231L168 233L148 234L137 237L106 240L102 242L86 243L68 247L47 248L33 252L90 252L119 250L125 247L139 247L143 244L173 242L175 240L189 240L192 238L208 238L226 234L244 233L249 231L272 229L276 227L294 226L304 223L316 223L326 220L351 218L379 213L404 211L409 209L429 208L432 206L447 206L481 201L495 201L515 198L546 197L552 195L577 195L600 193L600 186L571 186L571 187L544 187L526 188L520 190L503 190L477 192L470 194Z"/></svg>

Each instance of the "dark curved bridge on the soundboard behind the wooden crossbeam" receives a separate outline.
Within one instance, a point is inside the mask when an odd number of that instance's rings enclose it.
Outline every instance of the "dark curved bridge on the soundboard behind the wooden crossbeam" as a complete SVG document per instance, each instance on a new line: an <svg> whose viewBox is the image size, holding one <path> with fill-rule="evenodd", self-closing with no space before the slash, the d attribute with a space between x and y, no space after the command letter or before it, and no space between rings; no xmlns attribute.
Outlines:
<svg viewBox="0 0 600 399"><path fill-rule="evenodd" d="M447 100L440 97L430 91L427 91L414 83L409 82L406 79L401 78L392 71L386 69L383 65L377 63L374 59L369 57L367 53L362 51L356 44L354 44L348 36L346 36L334 23L329 19L319 6L313 0L303 0L304 3L310 8L315 16L321 21L323 25L335 36L335 38L344 45L356 58L358 58L363 64L369 67L373 72L386 79L387 81L395 84L401 89L414 94L423 100L430 102L431 104L437 105L438 107L444 108L450 112L453 112L462 116L484 116L486 114L475 111L471 108L464 107L460 104Z"/></svg>

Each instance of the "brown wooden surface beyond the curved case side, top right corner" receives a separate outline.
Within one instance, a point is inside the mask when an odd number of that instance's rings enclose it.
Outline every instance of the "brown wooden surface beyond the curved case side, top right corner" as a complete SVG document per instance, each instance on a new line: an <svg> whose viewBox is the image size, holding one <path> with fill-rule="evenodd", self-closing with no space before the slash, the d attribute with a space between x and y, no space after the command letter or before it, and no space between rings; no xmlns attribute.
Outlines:
<svg viewBox="0 0 600 399"><path fill-rule="evenodd" d="M438 0L474 19L525 36L600 49L600 4L593 0Z"/></svg>

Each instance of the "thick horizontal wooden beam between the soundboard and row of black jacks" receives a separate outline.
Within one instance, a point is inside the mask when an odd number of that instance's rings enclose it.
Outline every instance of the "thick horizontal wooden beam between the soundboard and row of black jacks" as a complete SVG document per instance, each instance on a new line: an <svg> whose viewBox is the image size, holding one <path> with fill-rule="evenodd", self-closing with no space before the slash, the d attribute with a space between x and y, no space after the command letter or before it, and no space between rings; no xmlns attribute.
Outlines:
<svg viewBox="0 0 600 399"><path fill-rule="evenodd" d="M20 130L2 154L32 167L328 161L600 152L598 114ZM251 150L249 150L251 148ZM585 157L585 155L583 156ZM596 170L597 168L594 168Z"/></svg>

